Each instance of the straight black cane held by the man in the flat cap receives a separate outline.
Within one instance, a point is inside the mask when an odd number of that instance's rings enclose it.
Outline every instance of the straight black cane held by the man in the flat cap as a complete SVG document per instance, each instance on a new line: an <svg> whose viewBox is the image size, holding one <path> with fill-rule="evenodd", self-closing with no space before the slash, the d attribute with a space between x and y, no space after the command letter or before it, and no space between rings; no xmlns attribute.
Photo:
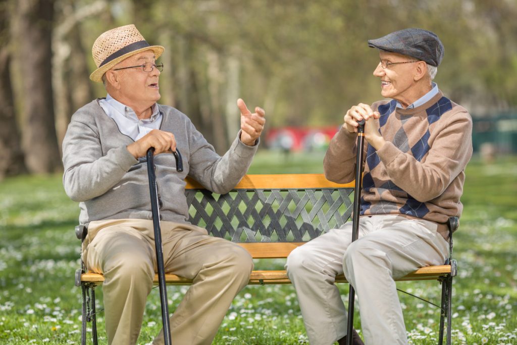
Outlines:
<svg viewBox="0 0 517 345"><path fill-rule="evenodd" d="M362 187L362 156L364 146L364 119L358 121L357 127L357 159L356 159L356 186L354 191L354 218L352 219L352 242L359 236L359 212L361 206ZM354 299L355 291L352 284L348 293L348 324L346 327L346 345L352 345L352 329L354 328Z"/></svg>

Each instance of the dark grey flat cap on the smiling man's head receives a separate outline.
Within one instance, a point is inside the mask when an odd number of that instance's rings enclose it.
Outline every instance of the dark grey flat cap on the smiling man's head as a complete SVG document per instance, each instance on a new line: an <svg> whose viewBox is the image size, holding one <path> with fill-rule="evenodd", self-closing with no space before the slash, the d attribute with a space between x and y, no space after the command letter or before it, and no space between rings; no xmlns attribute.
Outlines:
<svg viewBox="0 0 517 345"><path fill-rule="evenodd" d="M412 56L438 66L444 57L444 45L436 34L419 28L402 29L384 37L368 40L368 46Z"/></svg>

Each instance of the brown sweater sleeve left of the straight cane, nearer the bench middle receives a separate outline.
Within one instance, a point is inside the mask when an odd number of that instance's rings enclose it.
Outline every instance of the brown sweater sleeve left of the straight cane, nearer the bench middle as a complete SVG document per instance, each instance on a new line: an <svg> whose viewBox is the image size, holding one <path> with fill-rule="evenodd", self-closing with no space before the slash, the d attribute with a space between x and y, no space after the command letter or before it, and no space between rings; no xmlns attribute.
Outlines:
<svg viewBox="0 0 517 345"><path fill-rule="evenodd" d="M368 144L365 142L365 152ZM345 128L334 135L323 158L325 177L332 182L348 183L355 179L357 133Z"/></svg>

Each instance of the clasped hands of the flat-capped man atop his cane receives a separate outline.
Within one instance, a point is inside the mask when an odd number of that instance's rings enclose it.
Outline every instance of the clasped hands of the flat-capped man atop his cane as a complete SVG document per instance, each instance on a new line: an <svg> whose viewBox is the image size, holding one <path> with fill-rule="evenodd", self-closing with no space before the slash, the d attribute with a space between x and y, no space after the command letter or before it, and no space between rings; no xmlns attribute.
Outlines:
<svg viewBox="0 0 517 345"><path fill-rule="evenodd" d="M366 139L370 145L379 149L385 143L384 138L381 136L381 133L379 133L379 125L375 121L379 117L381 117L381 114L378 111L373 111L368 104L359 103L346 112L343 118L343 128L351 133L357 132L357 127L359 126L357 122L364 119L364 121L366 121L364 124L364 139Z"/></svg>

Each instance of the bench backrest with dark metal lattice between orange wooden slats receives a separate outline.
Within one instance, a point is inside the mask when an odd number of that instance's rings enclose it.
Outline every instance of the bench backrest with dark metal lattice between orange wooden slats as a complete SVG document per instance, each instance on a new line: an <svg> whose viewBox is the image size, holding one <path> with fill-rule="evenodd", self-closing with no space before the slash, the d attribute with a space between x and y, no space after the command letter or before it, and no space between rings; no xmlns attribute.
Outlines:
<svg viewBox="0 0 517 345"><path fill-rule="evenodd" d="M254 258L285 258L293 248L349 220L354 183L323 174L246 175L215 194L187 179L189 221L237 242ZM267 244L267 245L266 245Z"/></svg>

